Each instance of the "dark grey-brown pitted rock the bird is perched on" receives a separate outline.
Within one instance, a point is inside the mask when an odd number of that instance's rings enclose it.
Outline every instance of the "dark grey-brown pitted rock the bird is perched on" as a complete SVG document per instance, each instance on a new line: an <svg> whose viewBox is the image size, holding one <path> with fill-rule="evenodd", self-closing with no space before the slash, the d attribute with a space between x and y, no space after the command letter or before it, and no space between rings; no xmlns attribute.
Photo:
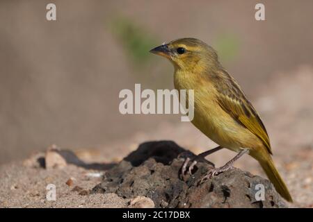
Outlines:
<svg viewBox="0 0 313 222"><path fill-rule="evenodd" d="M186 156L193 154L174 142L141 144L107 171L93 192L122 198L144 196L155 207L286 207L271 182L240 169L230 169L201 184L211 165L199 162L193 176L180 179L182 157ZM256 200L258 186L264 187L264 200Z"/></svg>

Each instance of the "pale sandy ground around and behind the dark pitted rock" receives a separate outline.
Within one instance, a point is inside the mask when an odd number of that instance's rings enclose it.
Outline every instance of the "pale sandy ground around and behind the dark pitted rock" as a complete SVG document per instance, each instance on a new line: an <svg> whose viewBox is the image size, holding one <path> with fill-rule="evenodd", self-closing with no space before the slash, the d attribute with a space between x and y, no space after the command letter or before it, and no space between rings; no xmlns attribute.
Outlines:
<svg viewBox="0 0 313 222"><path fill-rule="evenodd" d="M268 85L259 90L252 101L261 114L273 147L273 158L291 191L294 203L290 207L313 207L313 69L300 67L290 74L275 74ZM88 194L97 185L105 170L118 162L138 144L148 140L170 139L194 153L216 146L196 130L191 123L160 123L150 132L97 149L75 151L86 163L63 169L44 169L35 154L24 162L0 167L0 207L127 207L130 200L115 194ZM220 151L209 157L217 166L234 153ZM97 164L94 164L97 163ZM77 164L79 165L79 164ZM255 160L246 156L236 167L264 176ZM72 179L71 179L72 178ZM72 182L68 182L71 179ZM71 184L72 183L72 184ZM46 187L56 185L56 201L48 201Z"/></svg>

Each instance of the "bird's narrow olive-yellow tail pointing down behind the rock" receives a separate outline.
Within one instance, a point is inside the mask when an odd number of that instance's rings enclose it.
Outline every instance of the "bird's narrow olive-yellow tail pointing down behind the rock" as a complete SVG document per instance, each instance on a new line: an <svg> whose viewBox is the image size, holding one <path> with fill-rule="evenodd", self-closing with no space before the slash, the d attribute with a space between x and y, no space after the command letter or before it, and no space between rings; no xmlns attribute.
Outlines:
<svg viewBox="0 0 313 222"><path fill-rule="evenodd" d="M271 180L276 191L278 191L278 194L280 194L280 196L282 196L287 201L292 202L292 198L288 191L288 188L284 184L284 180L282 180L282 178L280 177L280 173L278 173L271 155L267 153L266 158L262 158L262 160L259 160L259 164L261 164L263 170L266 173L266 176L269 180Z"/></svg>

